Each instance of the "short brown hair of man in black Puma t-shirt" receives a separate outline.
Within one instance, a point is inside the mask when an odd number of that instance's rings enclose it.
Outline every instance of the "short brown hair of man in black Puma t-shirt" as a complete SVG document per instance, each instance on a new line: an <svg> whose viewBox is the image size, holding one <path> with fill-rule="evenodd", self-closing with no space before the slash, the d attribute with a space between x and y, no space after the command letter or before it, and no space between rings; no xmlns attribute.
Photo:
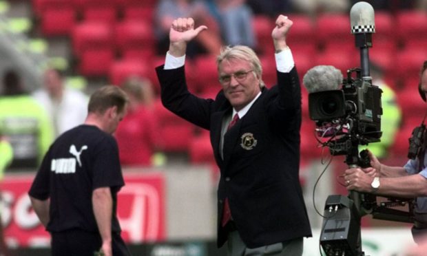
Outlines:
<svg viewBox="0 0 427 256"><path fill-rule="evenodd" d="M116 106L117 111L121 113L128 101L127 94L123 89L115 85L104 85L96 89L90 96L87 112L103 114L110 107Z"/></svg>

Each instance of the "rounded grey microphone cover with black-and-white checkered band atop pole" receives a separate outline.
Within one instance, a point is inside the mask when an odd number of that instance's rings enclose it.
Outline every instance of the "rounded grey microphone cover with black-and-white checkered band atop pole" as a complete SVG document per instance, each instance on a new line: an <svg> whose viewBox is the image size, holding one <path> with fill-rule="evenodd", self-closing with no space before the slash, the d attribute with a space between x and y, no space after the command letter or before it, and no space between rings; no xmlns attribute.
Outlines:
<svg viewBox="0 0 427 256"><path fill-rule="evenodd" d="M350 10L351 34L375 33L375 14L371 4L355 3Z"/></svg>

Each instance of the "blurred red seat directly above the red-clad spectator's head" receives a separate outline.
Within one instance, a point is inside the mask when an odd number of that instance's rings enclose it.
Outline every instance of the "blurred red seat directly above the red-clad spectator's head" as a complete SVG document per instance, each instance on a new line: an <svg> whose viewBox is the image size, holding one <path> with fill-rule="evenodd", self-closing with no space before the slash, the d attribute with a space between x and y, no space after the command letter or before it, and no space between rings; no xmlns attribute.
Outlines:
<svg viewBox="0 0 427 256"><path fill-rule="evenodd" d="M147 62L136 59L121 59L114 61L110 67L110 83L121 85L129 76L147 77L152 72L149 70Z"/></svg>

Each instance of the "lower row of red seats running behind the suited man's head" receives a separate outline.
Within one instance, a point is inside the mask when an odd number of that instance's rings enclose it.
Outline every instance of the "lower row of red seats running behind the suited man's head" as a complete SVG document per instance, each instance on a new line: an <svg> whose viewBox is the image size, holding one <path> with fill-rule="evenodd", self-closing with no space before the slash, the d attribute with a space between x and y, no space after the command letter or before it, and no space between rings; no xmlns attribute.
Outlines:
<svg viewBox="0 0 427 256"><path fill-rule="evenodd" d="M132 48L131 48L132 49ZM292 48L293 49L293 48ZM100 49L90 50L89 52L100 51ZM105 50L109 52L109 50ZM389 52L376 52L372 54L371 60L384 67L384 79L386 83L395 89L398 94L415 88L419 81L419 69L421 64L427 59L427 50L423 48L410 48L390 54ZM115 59L110 53L109 60L105 59L103 54L83 54L81 64L79 65L82 74L91 75L93 70L100 69L98 72L104 74L110 79L110 83L120 85L127 76L138 75L149 78L155 85L155 91L159 92L159 85L154 68L162 65L165 61L165 55L145 57L134 54L134 57ZM94 58L91 60L91 58ZM104 58L104 59L103 59ZM319 52L309 55L305 52L293 50L293 58L300 76L300 81L304 74L315 65L333 65L341 70L344 77L346 71L353 67L360 67L360 56L357 52L331 51ZM267 87L276 83L275 59L271 55L260 56L262 63L262 79ZM83 65L88 63L87 65ZM93 66L90 63L99 63ZM191 92L199 95L215 95L220 89L218 82L218 72L216 67L216 56L200 55L194 59L188 58L186 63L187 85ZM103 70L101 70L103 69ZM303 89L305 92L305 89ZM415 91L416 92L416 91Z"/></svg>

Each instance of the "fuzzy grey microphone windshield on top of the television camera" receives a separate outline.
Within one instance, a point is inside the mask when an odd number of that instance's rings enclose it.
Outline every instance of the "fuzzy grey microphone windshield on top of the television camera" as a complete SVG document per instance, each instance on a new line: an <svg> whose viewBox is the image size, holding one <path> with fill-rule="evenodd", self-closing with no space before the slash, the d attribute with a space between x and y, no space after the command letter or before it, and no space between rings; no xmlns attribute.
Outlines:
<svg viewBox="0 0 427 256"><path fill-rule="evenodd" d="M331 65L318 65L306 72L302 83L309 93L340 89L342 73Z"/></svg>

